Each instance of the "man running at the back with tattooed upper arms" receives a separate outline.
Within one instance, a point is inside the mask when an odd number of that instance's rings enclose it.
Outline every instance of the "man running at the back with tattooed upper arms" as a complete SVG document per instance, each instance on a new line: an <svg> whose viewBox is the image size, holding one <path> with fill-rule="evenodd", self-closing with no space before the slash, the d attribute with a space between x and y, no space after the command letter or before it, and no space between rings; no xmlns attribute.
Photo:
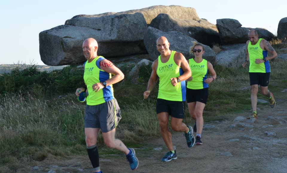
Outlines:
<svg viewBox="0 0 287 173"><path fill-rule="evenodd" d="M270 107L274 108L276 106L274 96L272 92L268 90L268 84L271 72L269 60L275 58L277 53L268 41L263 38L258 38L256 30L250 30L248 38L249 40L246 42L246 60L242 66L245 67L246 64L250 62L249 79L251 85L251 106L253 112L248 119L257 119L258 85L260 85L261 94L268 97Z"/></svg>

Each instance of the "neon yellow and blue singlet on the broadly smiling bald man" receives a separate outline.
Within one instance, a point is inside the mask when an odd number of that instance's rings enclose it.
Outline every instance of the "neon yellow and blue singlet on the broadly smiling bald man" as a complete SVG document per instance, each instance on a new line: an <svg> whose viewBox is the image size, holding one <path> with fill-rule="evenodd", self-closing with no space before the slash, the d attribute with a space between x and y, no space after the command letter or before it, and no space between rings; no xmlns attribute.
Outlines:
<svg viewBox="0 0 287 173"><path fill-rule="evenodd" d="M161 62L161 55L158 56L158 68L156 74L159 77L158 98L169 101L185 101L185 81L172 86L170 78L177 78L183 74L183 70L174 62L175 51L171 52L166 63Z"/></svg>

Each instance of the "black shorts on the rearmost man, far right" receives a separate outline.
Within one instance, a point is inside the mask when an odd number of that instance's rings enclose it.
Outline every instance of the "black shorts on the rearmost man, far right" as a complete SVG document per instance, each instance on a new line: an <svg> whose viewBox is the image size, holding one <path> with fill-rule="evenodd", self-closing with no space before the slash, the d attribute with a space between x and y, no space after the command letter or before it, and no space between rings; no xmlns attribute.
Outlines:
<svg viewBox="0 0 287 173"><path fill-rule="evenodd" d="M268 86L270 72L268 73L249 73L250 85Z"/></svg>

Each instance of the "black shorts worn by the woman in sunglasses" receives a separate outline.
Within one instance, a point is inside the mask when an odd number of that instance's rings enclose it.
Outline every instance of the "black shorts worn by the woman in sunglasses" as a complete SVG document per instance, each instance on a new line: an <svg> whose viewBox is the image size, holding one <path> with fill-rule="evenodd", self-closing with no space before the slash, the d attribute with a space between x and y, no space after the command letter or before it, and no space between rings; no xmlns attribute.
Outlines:
<svg viewBox="0 0 287 173"><path fill-rule="evenodd" d="M203 88L203 89L186 89L186 100L187 103L191 102L201 102L206 104L207 99L208 99L208 88Z"/></svg>

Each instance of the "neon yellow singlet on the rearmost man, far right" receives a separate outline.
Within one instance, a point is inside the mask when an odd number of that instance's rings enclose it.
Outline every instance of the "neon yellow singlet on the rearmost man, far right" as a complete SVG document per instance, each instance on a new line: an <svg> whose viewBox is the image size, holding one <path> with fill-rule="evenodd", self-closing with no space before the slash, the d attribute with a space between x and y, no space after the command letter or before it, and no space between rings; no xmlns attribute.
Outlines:
<svg viewBox="0 0 287 173"><path fill-rule="evenodd" d="M262 38L259 38L255 45L251 44L251 41L248 43L248 53L249 53L249 72L257 72L257 73L267 73L270 72L270 64L269 61L264 63L256 64L256 59L263 59L267 57L267 50L262 50L260 47L260 42Z"/></svg>

